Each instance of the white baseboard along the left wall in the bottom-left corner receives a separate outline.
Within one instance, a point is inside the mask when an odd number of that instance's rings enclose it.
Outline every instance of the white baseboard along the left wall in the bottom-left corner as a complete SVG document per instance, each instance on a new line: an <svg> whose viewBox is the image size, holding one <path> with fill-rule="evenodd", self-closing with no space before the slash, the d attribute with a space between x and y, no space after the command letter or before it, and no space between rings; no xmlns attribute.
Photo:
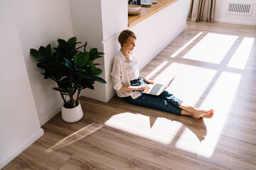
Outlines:
<svg viewBox="0 0 256 170"><path fill-rule="evenodd" d="M43 129L40 128L40 130L38 130L36 134L34 134L31 138L29 138L25 142L23 142L22 145L17 147L13 152L11 152L11 154L7 155L4 159L0 161L0 169L2 169L4 166L6 166L6 164L11 162L12 159L16 158L18 154L21 154L21 152L23 152L23 150L25 150L30 145L32 145L33 142L36 142L36 140L38 140L41 136L43 136L43 134L44 134Z"/></svg>

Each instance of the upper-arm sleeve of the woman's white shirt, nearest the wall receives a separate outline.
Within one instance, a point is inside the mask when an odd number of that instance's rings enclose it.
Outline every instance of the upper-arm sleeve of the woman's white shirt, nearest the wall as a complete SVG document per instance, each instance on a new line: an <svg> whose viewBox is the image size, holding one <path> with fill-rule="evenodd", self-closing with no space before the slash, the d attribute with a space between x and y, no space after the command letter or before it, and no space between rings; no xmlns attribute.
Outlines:
<svg viewBox="0 0 256 170"><path fill-rule="evenodd" d="M118 60L118 56L114 57L111 76L112 76L114 90L119 91L122 88L123 84L122 84L122 64L121 64L121 61Z"/></svg>

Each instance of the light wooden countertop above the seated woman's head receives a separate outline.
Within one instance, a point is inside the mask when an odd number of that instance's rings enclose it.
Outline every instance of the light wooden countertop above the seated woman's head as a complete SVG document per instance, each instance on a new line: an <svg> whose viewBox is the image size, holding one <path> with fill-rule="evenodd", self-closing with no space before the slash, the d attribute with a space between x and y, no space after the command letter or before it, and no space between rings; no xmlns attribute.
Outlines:
<svg viewBox="0 0 256 170"><path fill-rule="evenodd" d="M139 23L139 21L144 20L145 18L157 13L161 9L173 4L177 0L158 0L156 4L151 6L142 6L139 15L128 15L128 27L134 26L134 24Z"/></svg>

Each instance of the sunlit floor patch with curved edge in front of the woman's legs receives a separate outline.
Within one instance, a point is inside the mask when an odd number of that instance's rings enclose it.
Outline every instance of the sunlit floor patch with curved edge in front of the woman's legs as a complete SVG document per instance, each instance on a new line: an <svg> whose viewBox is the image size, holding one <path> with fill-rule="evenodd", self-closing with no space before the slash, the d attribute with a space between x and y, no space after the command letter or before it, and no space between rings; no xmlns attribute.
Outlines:
<svg viewBox="0 0 256 170"><path fill-rule="evenodd" d="M176 149L183 150L183 152L196 154L199 142L204 140L207 133L203 119L198 120L198 123L205 129L198 130L170 118L154 118L151 115L127 112L113 115L112 118L105 122L105 125L139 136L140 138L143 137L147 141L171 145L176 147ZM191 143L197 146L191 147Z"/></svg>

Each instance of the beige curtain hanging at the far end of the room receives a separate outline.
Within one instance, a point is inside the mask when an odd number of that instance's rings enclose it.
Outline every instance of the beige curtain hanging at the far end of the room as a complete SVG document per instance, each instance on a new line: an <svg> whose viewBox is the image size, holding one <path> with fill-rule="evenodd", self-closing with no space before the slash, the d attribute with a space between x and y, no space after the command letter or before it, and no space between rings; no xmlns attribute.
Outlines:
<svg viewBox="0 0 256 170"><path fill-rule="evenodd" d="M213 22L216 0L191 0L187 21Z"/></svg>

